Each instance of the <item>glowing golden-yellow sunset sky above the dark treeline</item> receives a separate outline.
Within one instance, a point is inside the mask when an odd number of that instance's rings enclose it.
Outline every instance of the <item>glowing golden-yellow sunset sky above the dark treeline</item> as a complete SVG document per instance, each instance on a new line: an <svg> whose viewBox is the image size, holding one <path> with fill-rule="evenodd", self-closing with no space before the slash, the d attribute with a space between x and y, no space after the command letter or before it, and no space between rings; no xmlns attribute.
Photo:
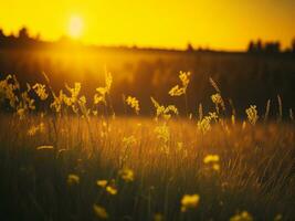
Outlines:
<svg viewBox="0 0 295 221"><path fill-rule="evenodd" d="M285 48L295 36L295 0L0 0L0 28L22 25L44 40L72 34L103 45L244 50L261 38Z"/></svg>

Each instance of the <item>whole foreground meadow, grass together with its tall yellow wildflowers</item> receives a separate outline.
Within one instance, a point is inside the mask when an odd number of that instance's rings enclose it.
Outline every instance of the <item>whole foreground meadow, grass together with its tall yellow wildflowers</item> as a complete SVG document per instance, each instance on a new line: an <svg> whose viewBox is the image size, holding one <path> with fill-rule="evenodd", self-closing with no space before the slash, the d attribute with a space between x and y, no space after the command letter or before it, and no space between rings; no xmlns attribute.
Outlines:
<svg viewBox="0 0 295 221"><path fill-rule="evenodd" d="M83 84L55 91L42 76L0 81L1 220L295 219L294 116L281 96L239 117L208 78L211 106L190 112L192 74L180 72L166 93L181 112L155 96L141 115L126 94L118 115L110 73L91 99Z"/></svg>

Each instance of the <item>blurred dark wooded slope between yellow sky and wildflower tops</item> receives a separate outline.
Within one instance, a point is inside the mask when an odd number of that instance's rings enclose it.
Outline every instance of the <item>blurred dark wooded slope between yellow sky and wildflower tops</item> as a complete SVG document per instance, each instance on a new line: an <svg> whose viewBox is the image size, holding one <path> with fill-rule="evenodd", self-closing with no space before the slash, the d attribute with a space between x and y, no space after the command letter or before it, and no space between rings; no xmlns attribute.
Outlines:
<svg viewBox="0 0 295 221"><path fill-rule="evenodd" d="M117 114L124 114L123 95L136 96L140 113L154 112L150 96L160 104L173 103L185 114L183 97L170 97L168 91L179 83L179 71L191 72L188 87L189 112L197 114L198 105L212 107L211 76L222 95L232 101L238 116L244 115L249 104L264 112L271 99L271 114L277 113L277 95L283 112L295 108L295 43L282 52L280 42L250 42L247 52L187 51L139 48L85 46L63 38L59 42L43 42L31 38L28 30L18 36L4 35L0 30L0 78L15 74L21 84L45 83L42 72L59 91L65 83L82 83L82 93L92 102L95 88L104 86L104 70L113 74L112 102ZM209 110L209 109L206 109ZM231 112L231 110L229 110Z"/></svg>

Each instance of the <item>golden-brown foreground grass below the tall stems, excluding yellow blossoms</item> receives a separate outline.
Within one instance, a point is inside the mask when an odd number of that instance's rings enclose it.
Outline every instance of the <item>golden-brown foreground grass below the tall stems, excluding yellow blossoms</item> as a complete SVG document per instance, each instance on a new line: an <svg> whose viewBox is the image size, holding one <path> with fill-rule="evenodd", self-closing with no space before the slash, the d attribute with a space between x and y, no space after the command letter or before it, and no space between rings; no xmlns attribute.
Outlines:
<svg viewBox="0 0 295 221"><path fill-rule="evenodd" d="M93 204L110 220L229 220L246 210L254 220L293 220L295 130L287 124L221 124L203 135L193 120L168 123L167 148L149 118L1 116L3 218L93 220ZM44 124L30 136L32 125ZM55 126L54 126L55 125ZM56 128L56 134L54 133ZM13 136L12 136L13 135ZM52 145L53 148L36 149ZM220 170L204 164L220 157ZM134 171L126 182L119 171ZM78 182L70 185L67 176ZM113 180L114 179L114 180ZM108 180L117 194L96 185ZM183 194L200 196L181 212ZM7 217L6 217L7 215Z"/></svg>

